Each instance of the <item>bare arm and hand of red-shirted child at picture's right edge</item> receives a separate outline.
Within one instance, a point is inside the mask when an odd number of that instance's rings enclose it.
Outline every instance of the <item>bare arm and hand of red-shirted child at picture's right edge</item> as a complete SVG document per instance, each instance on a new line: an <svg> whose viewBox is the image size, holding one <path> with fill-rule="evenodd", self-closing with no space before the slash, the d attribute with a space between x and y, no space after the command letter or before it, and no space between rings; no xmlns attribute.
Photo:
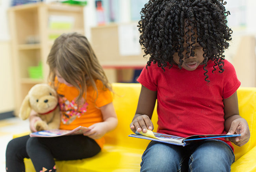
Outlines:
<svg viewBox="0 0 256 172"><path fill-rule="evenodd" d="M250 130L247 121L239 115L238 98L235 92L227 99L223 99L225 131L227 134L241 134L240 137L226 138L238 146L242 146L249 141Z"/></svg>

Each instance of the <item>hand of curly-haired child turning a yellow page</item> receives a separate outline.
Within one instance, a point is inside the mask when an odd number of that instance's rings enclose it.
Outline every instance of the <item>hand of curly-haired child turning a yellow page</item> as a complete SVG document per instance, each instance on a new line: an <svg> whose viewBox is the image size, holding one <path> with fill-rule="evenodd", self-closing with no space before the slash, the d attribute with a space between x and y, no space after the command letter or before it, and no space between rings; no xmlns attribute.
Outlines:
<svg viewBox="0 0 256 172"><path fill-rule="evenodd" d="M137 130L137 132L143 132L146 133L147 129L153 130L154 125L152 124L152 121L148 117L148 115L140 115L133 122L130 124L130 128L133 133Z"/></svg>

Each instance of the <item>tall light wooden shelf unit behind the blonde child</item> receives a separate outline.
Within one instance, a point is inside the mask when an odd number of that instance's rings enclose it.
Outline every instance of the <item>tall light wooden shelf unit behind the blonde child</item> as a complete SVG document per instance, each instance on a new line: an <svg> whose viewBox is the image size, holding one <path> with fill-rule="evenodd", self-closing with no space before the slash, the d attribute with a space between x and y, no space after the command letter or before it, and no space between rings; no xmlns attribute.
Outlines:
<svg viewBox="0 0 256 172"><path fill-rule="evenodd" d="M22 100L30 88L47 82L49 67L46 60L54 39L67 32L84 34L84 14L83 7L80 6L43 3L11 7L8 14L15 84L15 115L18 115ZM39 62L42 62L42 78L31 79L28 68L37 66Z"/></svg>

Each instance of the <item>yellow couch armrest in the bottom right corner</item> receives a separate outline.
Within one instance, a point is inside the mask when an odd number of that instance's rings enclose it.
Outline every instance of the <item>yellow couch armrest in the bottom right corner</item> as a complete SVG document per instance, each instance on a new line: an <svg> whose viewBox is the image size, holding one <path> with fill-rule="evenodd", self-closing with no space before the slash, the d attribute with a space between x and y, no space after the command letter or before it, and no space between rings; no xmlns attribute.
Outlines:
<svg viewBox="0 0 256 172"><path fill-rule="evenodd" d="M231 165L231 172L255 172L256 171L256 146L241 156Z"/></svg>

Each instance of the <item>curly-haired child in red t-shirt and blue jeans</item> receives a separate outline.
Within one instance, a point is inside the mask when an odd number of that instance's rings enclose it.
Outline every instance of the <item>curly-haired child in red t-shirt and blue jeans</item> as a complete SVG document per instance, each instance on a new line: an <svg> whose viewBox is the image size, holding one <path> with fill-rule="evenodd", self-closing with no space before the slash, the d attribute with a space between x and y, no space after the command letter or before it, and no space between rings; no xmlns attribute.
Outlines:
<svg viewBox="0 0 256 172"><path fill-rule="evenodd" d="M194 134L234 134L238 146L250 131L238 110L240 81L224 60L232 30L223 0L149 0L141 11L140 43L149 55L138 81L142 84L130 128L187 137ZM146 56L145 55L145 56ZM227 140L205 140L185 147L152 141L142 156L142 172L230 171L234 162Z"/></svg>

